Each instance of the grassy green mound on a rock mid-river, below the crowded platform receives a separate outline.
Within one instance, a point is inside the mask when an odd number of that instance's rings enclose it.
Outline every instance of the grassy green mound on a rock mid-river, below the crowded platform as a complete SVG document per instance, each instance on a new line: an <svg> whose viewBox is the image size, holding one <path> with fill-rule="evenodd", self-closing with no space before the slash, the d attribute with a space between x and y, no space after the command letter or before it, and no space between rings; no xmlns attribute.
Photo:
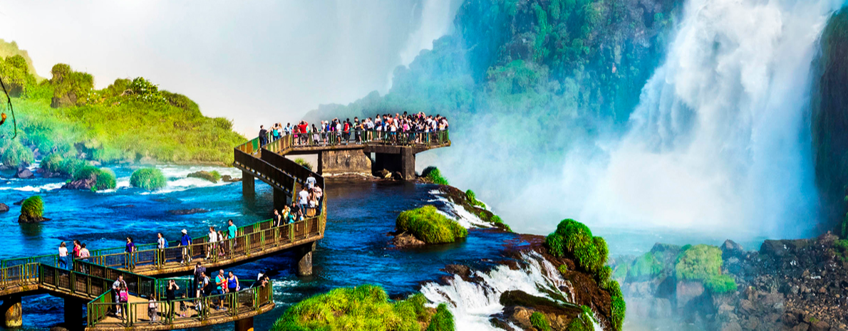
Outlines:
<svg viewBox="0 0 848 331"><path fill-rule="evenodd" d="M427 244L450 243L468 235L467 229L432 206L401 212L396 226L399 231L413 234Z"/></svg>

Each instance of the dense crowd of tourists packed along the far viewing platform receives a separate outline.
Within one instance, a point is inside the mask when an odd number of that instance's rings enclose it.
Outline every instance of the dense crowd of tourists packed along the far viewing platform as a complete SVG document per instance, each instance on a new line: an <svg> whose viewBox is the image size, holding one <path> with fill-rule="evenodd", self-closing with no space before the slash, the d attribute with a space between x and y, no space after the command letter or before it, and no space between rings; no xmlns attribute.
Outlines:
<svg viewBox="0 0 848 331"><path fill-rule="evenodd" d="M282 123L259 125L259 144L265 146L284 136L291 135L294 145L326 146L336 144L360 144L370 141L381 141L388 144L427 144L440 139L433 133L448 130L448 119L441 115L425 113L395 113L394 115L377 114L373 119L360 120L354 117L340 120L324 120L317 126L306 121L292 125Z"/></svg>

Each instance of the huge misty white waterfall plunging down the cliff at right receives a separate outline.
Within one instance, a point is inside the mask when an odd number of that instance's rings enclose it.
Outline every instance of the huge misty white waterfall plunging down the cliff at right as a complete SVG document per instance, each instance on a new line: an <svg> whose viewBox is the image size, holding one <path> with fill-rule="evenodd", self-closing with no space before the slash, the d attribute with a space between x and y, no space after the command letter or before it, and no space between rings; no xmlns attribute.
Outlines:
<svg viewBox="0 0 848 331"><path fill-rule="evenodd" d="M611 144L604 170L590 179L594 190L577 201L581 218L804 235L817 216L811 63L843 3L689 1L628 134ZM570 171L566 178L580 182L566 187L587 184Z"/></svg>

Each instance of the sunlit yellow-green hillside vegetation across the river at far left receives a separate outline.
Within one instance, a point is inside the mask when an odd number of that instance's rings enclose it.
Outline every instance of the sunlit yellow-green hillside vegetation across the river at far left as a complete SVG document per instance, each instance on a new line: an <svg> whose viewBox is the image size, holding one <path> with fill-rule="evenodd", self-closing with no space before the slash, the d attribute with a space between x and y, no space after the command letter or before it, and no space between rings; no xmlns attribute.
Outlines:
<svg viewBox="0 0 848 331"><path fill-rule="evenodd" d="M7 45L0 42L0 50ZM109 163L143 158L230 164L232 146L244 141L229 120L204 117L187 97L159 90L142 77L95 90L91 74L64 63L53 66L51 79L38 82L30 63L20 54L0 60L19 133L0 143L5 165L32 162L35 149ZM3 125L0 136L11 137L13 130Z"/></svg>

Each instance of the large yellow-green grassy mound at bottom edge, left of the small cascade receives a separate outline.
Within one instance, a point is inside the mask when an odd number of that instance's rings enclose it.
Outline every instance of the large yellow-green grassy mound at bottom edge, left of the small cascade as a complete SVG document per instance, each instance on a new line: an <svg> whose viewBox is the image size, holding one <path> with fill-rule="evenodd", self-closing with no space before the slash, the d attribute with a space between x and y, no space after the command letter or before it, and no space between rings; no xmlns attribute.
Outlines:
<svg viewBox="0 0 848 331"><path fill-rule="evenodd" d="M386 291L379 286L338 288L289 307L271 329L453 330L453 320L446 307L440 306L434 315L425 303L427 299L421 294L410 295L403 301L389 301ZM433 323L438 325L433 327Z"/></svg>

